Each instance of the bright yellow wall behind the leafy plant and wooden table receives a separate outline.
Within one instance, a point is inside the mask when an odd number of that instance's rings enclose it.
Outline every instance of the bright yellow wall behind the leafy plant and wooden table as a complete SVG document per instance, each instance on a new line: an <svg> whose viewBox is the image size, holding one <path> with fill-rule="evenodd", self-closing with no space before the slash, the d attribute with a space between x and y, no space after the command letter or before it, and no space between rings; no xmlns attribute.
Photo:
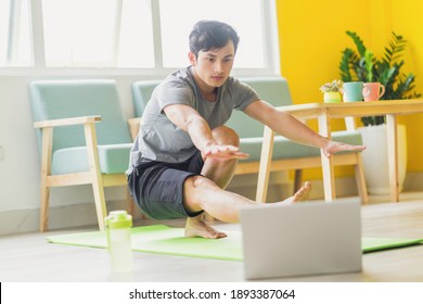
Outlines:
<svg viewBox="0 0 423 304"><path fill-rule="evenodd" d="M402 72L416 75L416 90L423 93L423 1L420 0L277 0L281 50L281 73L287 78L294 103L322 100L319 87L339 78L341 52L355 48L346 30L356 31L376 55L384 52L390 33L408 40ZM408 170L423 170L423 114L402 116L407 126ZM315 123L310 126L317 129ZM335 129L343 122L336 122ZM351 175L337 168L337 176ZM308 170L308 178L320 177L320 169Z"/></svg>

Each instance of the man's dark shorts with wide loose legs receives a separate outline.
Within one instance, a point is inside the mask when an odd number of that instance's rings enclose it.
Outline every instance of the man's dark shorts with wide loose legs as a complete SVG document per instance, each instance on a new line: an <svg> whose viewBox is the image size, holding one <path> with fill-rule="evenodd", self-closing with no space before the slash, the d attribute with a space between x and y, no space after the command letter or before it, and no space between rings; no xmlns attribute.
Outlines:
<svg viewBox="0 0 423 304"><path fill-rule="evenodd" d="M183 182L190 176L201 175L204 161L195 153L185 163L170 164L150 161L133 168L128 187L142 212L155 219L196 216L183 207Z"/></svg>

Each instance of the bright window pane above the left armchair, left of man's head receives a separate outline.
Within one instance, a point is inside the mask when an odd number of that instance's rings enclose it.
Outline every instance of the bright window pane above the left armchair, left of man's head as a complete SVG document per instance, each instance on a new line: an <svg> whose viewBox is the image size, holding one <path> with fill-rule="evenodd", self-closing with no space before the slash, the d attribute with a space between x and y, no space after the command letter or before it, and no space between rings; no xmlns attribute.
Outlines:
<svg viewBox="0 0 423 304"><path fill-rule="evenodd" d="M48 66L153 67L148 0L43 0Z"/></svg>

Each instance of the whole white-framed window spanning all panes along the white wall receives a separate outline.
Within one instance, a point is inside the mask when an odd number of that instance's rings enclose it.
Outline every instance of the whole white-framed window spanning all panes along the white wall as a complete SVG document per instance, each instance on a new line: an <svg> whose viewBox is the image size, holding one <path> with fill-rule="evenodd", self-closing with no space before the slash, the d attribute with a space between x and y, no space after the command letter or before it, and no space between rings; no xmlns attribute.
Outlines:
<svg viewBox="0 0 423 304"><path fill-rule="evenodd" d="M241 38L234 72L269 74L279 71L274 7L273 0L0 0L0 66L167 74L189 64L192 26L219 20Z"/></svg>

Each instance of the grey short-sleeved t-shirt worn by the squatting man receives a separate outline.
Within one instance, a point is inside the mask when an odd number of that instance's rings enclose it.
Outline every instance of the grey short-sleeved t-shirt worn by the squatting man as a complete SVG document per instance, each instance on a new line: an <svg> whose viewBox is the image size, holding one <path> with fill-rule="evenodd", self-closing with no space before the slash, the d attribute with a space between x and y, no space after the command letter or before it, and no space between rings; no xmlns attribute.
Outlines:
<svg viewBox="0 0 423 304"><path fill-rule="evenodd" d="M169 75L154 89L145 106L127 174L149 161L183 163L197 151L188 132L167 118L163 111L167 105L192 106L214 129L228 122L233 109L243 111L258 99L249 86L230 76L218 88L216 101L210 102L201 94L190 67Z"/></svg>

